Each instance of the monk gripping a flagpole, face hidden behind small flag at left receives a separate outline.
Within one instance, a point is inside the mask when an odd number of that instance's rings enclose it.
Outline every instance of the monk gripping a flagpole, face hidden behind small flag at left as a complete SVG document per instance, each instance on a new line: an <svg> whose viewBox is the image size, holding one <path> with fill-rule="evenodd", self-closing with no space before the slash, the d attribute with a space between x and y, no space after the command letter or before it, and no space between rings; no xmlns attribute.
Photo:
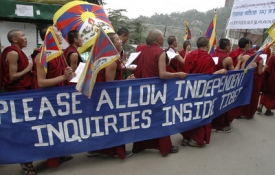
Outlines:
<svg viewBox="0 0 275 175"><path fill-rule="evenodd" d="M51 26L55 32L59 44L62 43L61 33L53 26ZM41 29L40 36L44 40L46 31L48 27ZM40 64L40 55L37 53L35 57L36 68L37 68L37 82L39 88L55 87L55 86L67 86L69 85L69 80L74 76L74 72L71 67L67 67L65 59L63 56L58 56L47 63L48 71L44 71L44 66ZM47 165L49 167L56 167L59 163L71 160L73 157L71 155L66 155L62 157L56 157L48 159Z"/></svg>

